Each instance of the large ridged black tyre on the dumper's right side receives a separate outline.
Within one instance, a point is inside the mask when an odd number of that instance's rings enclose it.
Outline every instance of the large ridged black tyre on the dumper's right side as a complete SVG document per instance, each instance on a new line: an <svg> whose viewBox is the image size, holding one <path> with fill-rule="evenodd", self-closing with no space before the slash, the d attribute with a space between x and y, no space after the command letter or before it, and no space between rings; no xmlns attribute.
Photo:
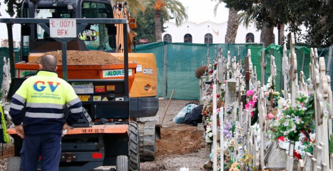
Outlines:
<svg viewBox="0 0 333 171"><path fill-rule="evenodd" d="M134 121L129 122L129 170L140 170L139 127Z"/></svg>

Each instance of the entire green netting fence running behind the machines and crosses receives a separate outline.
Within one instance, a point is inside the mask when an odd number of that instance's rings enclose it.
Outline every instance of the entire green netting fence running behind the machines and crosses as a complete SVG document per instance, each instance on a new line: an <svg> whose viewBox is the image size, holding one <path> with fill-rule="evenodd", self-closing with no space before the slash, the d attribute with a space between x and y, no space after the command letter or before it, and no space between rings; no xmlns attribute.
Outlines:
<svg viewBox="0 0 333 171"><path fill-rule="evenodd" d="M239 56L243 59L247 55L247 49L251 49L251 59L253 66L256 66L257 79L261 81L261 51L265 50L265 59L267 61L265 69L265 80L270 76L270 55L275 57L276 64L276 90L280 91L282 86L282 47L279 45L271 44L267 48L258 43L247 44L208 44L208 52L210 61L217 55L218 47L223 49L223 56L227 57L228 50L231 56ZM298 73L303 70L305 79L309 78L309 63L310 63L310 49L304 46L295 47L297 55L297 71ZM333 78L333 45L318 49L318 56L325 58L326 72ZM133 49L134 50L134 49ZM175 90L173 95L174 99L182 100L198 100L199 95L199 80L195 77L195 70L199 66L207 64L207 44L194 44L194 43L167 43L158 42L145 45L138 45L135 47L137 53L153 53L155 55L158 74L158 97L170 98L171 93ZM19 61L20 49L14 48L15 62ZM289 55L289 50L287 52ZM9 48L0 47L0 65L3 68L4 57L9 57ZM166 79L164 80L164 57L167 61L165 66ZM237 57L238 59L238 57ZM3 78L3 69L0 70L0 81ZM333 81L333 79L331 79ZM165 92L164 92L165 83ZM266 81L265 81L266 83ZM333 82L331 82L331 89L333 90Z"/></svg>

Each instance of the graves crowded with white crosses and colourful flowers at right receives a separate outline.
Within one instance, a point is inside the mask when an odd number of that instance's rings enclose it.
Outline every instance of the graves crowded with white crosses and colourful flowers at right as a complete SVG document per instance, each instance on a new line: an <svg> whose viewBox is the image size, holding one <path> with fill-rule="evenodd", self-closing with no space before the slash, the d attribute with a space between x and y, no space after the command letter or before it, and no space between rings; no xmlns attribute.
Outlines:
<svg viewBox="0 0 333 171"><path fill-rule="evenodd" d="M291 34L291 40L294 34ZM200 79L205 140L213 170L332 170L332 92L323 57L311 49L310 77L297 72L295 42L283 48L282 91L275 90L275 57L261 53L257 81L251 51L243 59L218 47L207 75ZM333 138L333 137L332 137Z"/></svg>

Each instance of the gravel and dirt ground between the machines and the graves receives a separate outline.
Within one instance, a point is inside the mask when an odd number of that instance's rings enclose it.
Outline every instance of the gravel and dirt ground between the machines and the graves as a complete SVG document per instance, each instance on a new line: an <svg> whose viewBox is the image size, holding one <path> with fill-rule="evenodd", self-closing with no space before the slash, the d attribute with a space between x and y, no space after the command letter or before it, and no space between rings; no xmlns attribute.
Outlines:
<svg viewBox="0 0 333 171"><path fill-rule="evenodd" d="M157 124L160 124L162 121L163 114L167 109L169 100L159 100L159 110L155 117L144 118L144 120L154 120ZM186 100L172 100L167 113L165 114L163 127L161 128L162 139L156 141L157 142L157 152L155 161L150 162L141 162L140 168L141 170L179 170L182 167L187 167L189 170L206 170L203 168L203 165L208 161L209 156L209 146L206 145L203 139L203 131L197 131L197 127L189 126L186 124L175 124L172 119L177 115L179 111L181 111L186 103L196 102L197 101L186 101ZM141 119L143 121L143 119ZM184 139L175 140L172 136L164 136L163 133L173 133L172 131L179 130L178 132L174 132L175 134L180 134L180 137L184 137ZM183 130L183 131L182 131ZM187 131L184 133L184 130ZM169 131L169 132L168 132ZM188 135L191 133L195 133L197 138L190 139L190 142L185 142L189 140ZM198 137L199 135L199 137ZM202 136L201 136L202 135ZM192 136L190 136L192 137ZM170 138L170 139L168 139ZM187 138L187 139L185 139ZM168 143L170 141L170 144ZM177 141L177 142L175 142ZM166 143L167 142L167 143ZM186 150L187 146L184 147L185 142L188 146L191 146L192 149ZM182 145L178 145L180 143ZM196 143L199 145L193 145L192 143ZM165 144L170 146L165 146ZM161 146L162 145L162 146ZM186 144L185 144L186 145ZM199 147L198 147L199 146ZM197 147L197 148L196 148ZM169 153L169 148L172 148L173 152ZM168 152L166 152L166 151ZM182 152L177 152L182 151ZM184 153L185 151L185 153ZM187 152L189 151L189 152ZM1 154L1 153L0 153ZM13 155L13 145L5 146L4 155L0 155L0 170L6 170L8 157ZM113 167L105 167L101 166L94 170L105 170Z"/></svg>

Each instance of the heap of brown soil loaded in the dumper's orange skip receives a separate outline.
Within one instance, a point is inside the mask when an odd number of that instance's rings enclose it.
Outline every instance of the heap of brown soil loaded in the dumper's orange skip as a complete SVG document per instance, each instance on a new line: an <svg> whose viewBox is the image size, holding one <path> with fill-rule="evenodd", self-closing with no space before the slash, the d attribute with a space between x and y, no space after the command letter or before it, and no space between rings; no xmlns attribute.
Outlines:
<svg viewBox="0 0 333 171"><path fill-rule="evenodd" d="M57 64L62 65L62 51L51 51L45 54L53 55L57 58ZM38 64L40 57L29 64ZM98 65L98 64L123 64L124 61L103 51L91 50L91 51L78 51L68 50L67 51L67 64L68 65Z"/></svg>

